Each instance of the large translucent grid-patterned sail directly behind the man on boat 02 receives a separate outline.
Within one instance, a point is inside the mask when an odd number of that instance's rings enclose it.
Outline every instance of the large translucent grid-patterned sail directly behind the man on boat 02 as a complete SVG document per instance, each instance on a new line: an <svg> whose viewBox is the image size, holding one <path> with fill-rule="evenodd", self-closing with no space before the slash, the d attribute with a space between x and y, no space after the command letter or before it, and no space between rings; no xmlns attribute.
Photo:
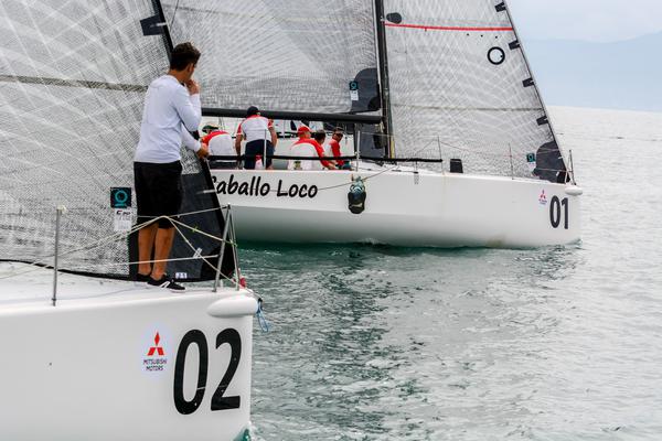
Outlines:
<svg viewBox="0 0 662 441"><path fill-rule="evenodd" d="M64 205L61 267L128 276L128 240L104 238L114 234L110 189L134 183L145 93L168 69L164 39L141 25L157 12L151 0L0 2L0 259L52 263ZM188 158L184 209L212 206L192 193L204 180ZM203 217L183 220L218 234L216 214ZM179 244L173 257L192 254ZM194 279L201 262L169 270Z"/></svg>

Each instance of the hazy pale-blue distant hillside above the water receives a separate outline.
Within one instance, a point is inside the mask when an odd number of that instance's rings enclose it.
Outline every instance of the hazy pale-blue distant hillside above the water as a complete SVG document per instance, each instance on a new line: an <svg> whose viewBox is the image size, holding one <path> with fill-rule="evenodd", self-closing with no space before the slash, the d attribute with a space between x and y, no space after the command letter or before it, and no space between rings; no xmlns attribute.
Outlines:
<svg viewBox="0 0 662 441"><path fill-rule="evenodd" d="M525 41L546 104L662 111L662 33L616 43Z"/></svg>

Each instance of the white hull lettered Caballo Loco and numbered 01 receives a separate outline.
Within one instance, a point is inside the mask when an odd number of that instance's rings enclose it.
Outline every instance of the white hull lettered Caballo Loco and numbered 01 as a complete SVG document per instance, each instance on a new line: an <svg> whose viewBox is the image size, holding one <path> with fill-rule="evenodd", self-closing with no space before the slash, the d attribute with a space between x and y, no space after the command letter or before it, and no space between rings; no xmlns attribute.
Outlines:
<svg viewBox="0 0 662 441"><path fill-rule="evenodd" d="M378 168L212 175L243 240L526 248L568 244L580 235L580 189L546 181ZM365 180L361 214L348 204L356 176Z"/></svg>

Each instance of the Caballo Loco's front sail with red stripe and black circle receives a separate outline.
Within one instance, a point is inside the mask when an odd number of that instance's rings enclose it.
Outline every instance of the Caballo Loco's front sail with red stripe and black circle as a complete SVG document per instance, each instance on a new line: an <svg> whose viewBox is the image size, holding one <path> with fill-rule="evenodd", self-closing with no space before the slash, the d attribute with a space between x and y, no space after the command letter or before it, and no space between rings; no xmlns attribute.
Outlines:
<svg viewBox="0 0 662 441"><path fill-rule="evenodd" d="M505 3L384 6L397 155L461 158L466 172L555 182L565 163Z"/></svg>

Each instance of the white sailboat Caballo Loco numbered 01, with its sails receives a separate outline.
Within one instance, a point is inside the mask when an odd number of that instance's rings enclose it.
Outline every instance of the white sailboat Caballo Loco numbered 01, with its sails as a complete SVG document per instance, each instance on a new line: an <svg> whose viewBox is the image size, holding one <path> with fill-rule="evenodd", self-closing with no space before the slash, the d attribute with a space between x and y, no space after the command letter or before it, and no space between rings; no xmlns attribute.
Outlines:
<svg viewBox="0 0 662 441"><path fill-rule="evenodd" d="M505 1L163 8L173 35L209 55L205 115L241 118L257 106L276 120L344 127L354 143L348 171L213 170L239 238L515 248L579 239L572 154L559 150Z"/></svg>

